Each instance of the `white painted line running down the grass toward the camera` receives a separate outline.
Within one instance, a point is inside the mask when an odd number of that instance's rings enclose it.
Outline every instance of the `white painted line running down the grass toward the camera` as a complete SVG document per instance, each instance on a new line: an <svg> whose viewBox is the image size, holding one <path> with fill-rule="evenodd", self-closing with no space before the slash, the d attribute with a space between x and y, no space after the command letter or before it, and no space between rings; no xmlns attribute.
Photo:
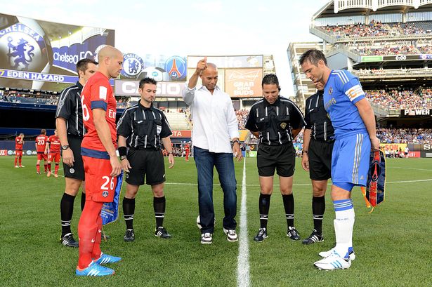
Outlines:
<svg viewBox="0 0 432 287"><path fill-rule="evenodd" d="M250 284L249 241L247 240L246 158L244 158L242 179L242 206L240 208L239 255L237 258L237 286L250 286Z"/></svg>

